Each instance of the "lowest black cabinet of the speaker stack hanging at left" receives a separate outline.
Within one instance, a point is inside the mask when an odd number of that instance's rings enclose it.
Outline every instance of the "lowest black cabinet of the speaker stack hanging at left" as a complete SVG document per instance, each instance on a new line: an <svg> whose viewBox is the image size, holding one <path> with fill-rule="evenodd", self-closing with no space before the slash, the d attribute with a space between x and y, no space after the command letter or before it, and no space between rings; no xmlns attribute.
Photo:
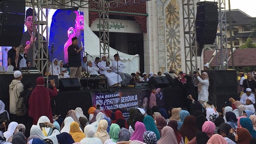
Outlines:
<svg viewBox="0 0 256 144"><path fill-rule="evenodd" d="M14 37L14 36L0 36L0 46L16 46L20 45L22 37Z"/></svg>

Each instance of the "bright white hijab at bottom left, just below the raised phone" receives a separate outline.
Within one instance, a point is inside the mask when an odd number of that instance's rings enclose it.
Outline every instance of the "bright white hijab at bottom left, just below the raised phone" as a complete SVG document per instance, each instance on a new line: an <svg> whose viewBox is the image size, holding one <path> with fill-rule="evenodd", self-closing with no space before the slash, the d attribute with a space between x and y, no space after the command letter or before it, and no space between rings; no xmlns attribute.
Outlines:
<svg viewBox="0 0 256 144"><path fill-rule="evenodd" d="M60 134L60 132L58 132L58 134ZM58 144L58 139L57 139L56 135L44 136L41 128L36 125L32 125L32 127L30 129L30 136L39 136L43 140L46 138L49 138L50 140L52 140L53 144Z"/></svg>

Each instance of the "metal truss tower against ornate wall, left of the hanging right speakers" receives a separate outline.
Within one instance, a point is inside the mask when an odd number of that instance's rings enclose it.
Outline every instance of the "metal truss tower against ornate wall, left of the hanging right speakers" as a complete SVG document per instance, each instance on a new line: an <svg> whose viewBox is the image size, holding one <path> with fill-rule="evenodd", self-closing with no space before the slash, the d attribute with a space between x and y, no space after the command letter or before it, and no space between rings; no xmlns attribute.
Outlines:
<svg viewBox="0 0 256 144"><path fill-rule="evenodd" d="M186 73L197 71L195 0L182 0Z"/></svg>

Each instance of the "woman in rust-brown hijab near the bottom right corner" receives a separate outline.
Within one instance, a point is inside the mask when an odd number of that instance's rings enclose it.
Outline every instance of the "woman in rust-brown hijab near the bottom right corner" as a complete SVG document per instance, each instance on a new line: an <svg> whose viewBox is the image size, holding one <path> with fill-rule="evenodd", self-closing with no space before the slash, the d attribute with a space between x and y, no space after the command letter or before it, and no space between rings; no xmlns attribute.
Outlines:
<svg viewBox="0 0 256 144"><path fill-rule="evenodd" d="M238 144L249 144L252 136L246 128L236 128L236 141Z"/></svg>

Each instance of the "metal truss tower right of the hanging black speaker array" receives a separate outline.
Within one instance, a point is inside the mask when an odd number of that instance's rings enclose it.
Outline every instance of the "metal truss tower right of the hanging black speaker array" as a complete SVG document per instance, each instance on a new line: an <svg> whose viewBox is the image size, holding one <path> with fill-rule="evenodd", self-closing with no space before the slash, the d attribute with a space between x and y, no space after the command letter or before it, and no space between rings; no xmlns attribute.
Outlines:
<svg viewBox="0 0 256 144"><path fill-rule="evenodd" d="M214 1L218 2L218 29L215 39L216 69L224 70L228 68L226 0Z"/></svg>

